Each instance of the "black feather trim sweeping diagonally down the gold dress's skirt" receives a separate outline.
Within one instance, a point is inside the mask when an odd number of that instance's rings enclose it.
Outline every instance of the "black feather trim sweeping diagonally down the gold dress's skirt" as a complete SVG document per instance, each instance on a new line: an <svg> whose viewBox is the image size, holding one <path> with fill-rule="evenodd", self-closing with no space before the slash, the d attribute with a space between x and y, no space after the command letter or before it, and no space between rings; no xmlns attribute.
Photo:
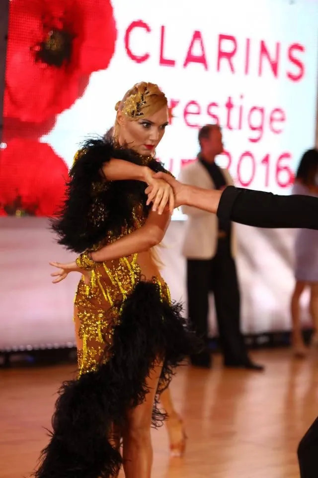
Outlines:
<svg viewBox="0 0 318 478"><path fill-rule="evenodd" d="M112 427L122 428L127 410L145 400L146 379L158 358L163 361L160 393L174 368L197 347L181 309L180 304L161 299L157 284L136 285L123 303L111 359L59 390L51 440L42 451L36 478L116 476L122 458L109 442ZM164 418L157 397L153 426Z"/></svg>

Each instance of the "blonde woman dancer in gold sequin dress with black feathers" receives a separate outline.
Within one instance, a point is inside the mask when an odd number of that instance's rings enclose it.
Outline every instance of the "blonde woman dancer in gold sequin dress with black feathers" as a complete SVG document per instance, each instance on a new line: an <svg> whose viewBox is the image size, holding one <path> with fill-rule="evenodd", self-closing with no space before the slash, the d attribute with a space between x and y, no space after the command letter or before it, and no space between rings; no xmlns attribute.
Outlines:
<svg viewBox="0 0 318 478"><path fill-rule="evenodd" d="M54 282L82 274L79 376L60 389L37 478L114 477L122 463L127 478L150 478L150 427L164 419L159 394L194 341L152 251L170 211L152 211L144 192L155 185L158 201L170 198L173 208L170 186L153 179L164 171L154 154L168 124L167 100L157 85L139 83L116 110L115 139L83 145L53 224L60 243L80 253L75 262L52 263Z"/></svg>

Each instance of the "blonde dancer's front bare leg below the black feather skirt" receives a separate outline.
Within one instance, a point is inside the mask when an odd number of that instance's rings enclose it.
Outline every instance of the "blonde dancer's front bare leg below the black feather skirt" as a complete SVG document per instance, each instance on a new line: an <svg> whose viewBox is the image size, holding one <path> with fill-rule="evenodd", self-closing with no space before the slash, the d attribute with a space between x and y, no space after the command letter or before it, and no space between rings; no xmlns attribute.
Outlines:
<svg viewBox="0 0 318 478"><path fill-rule="evenodd" d="M162 365L149 373L149 393L145 401L127 413L127 427L123 431L123 460L126 478L150 478L153 464L151 420Z"/></svg>

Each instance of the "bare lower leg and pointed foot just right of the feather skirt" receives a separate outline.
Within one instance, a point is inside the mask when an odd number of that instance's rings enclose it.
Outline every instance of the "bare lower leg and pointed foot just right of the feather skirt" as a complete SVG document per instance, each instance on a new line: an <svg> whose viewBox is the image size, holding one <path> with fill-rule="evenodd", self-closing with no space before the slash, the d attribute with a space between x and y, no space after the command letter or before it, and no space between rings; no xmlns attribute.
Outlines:
<svg viewBox="0 0 318 478"><path fill-rule="evenodd" d="M185 432L181 418L175 411L169 388L166 388L160 395L160 402L166 411L168 418L166 427L169 435L171 456L181 457L185 450Z"/></svg>

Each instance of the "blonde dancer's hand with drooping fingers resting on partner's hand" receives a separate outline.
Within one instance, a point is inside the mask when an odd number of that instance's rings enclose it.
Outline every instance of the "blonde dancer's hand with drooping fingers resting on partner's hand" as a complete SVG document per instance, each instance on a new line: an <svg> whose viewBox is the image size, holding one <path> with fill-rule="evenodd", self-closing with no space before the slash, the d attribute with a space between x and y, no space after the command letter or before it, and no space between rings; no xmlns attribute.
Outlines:
<svg viewBox="0 0 318 478"><path fill-rule="evenodd" d="M156 177L155 173L152 170L148 170L145 176L146 183L150 189L148 194L147 205L153 203L153 211L158 211L159 214L162 214L165 207L170 211L170 214L173 213L174 209L174 195L172 187L159 177Z"/></svg>

